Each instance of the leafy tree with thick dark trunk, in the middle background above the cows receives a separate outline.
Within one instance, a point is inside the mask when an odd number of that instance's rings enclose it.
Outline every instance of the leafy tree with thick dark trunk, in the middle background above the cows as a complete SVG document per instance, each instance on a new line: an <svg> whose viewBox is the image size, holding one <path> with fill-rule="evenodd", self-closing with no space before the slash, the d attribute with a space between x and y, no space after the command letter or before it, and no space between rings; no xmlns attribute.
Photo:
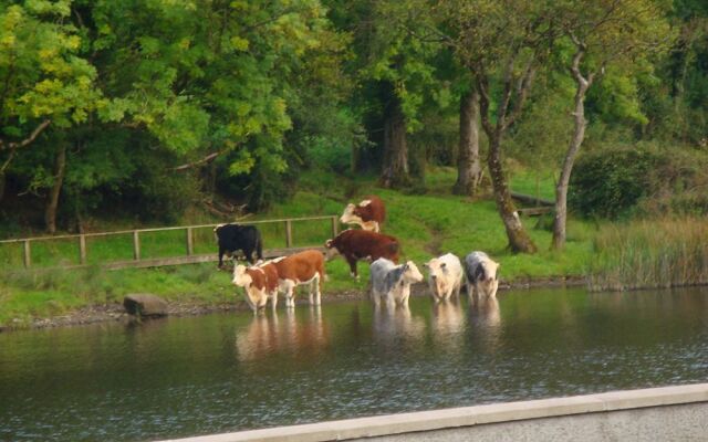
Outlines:
<svg viewBox="0 0 708 442"><path fill-rule="evenodd" d="M382 145L379 182L387 188L410 183L408 134L420 129L421 107L435 84L433 57L440 45L409 32L425 15L412 7L418 1L326 2L335 24L352 35L348 69L358 86L353 101Z"/></svg>

